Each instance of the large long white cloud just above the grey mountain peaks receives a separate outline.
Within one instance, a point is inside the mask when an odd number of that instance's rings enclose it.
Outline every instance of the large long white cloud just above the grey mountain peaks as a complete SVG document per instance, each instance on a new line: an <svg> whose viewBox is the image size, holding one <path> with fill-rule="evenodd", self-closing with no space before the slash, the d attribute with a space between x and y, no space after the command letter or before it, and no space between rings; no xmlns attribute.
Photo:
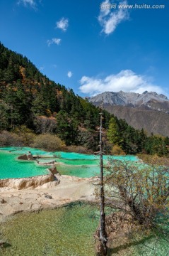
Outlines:
<svg viewBox="0 0 169 256"><path fill-rule="evenodd" d="M79 89L86 95L97 95L101 92L138 92L153 91L163 93L158 85L154 85L151 79L144 75L136 75L132 70L122 70L120 73L101 78L89 78L83 76Z"/></svg>

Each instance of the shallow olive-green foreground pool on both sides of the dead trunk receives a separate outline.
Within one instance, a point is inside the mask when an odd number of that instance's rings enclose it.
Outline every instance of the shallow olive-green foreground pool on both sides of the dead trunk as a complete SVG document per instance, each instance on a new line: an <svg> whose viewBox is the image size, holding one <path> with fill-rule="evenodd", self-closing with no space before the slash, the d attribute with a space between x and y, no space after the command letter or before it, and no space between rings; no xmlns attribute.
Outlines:
<svg viewBox="0 0 169 256"><path fill-rule="evenodd" d="M40 213L20 213L0 223L0 240L8 245L0 249L0 255L93 256L93 234L98 221L98 208L87 203L71 203ZM136 234L120 246L112 241L109 255L167 256L168 238L168 234L151 233L142 237Z"/></svg>

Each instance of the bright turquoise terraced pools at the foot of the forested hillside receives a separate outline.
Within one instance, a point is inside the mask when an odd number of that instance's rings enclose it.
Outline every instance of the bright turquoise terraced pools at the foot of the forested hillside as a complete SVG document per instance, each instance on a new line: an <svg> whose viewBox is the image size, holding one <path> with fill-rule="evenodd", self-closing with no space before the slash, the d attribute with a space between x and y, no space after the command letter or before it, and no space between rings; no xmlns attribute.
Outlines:
<svg viewBox="0 0 169 256"><path fill-rule="evenodd" d="M57 170L61 174L88 178L99 175L99 156L78 154L70 152L47 152L41 149L29 147L3 147L0 148L0 178L23 178L47 174L47 166L38 166L36 161L17 161L21 154L31 152L36 156L45 158L39 159L42 163L57 161ZM103 156L106 164L110 156ZM136 156L111 156L113 159L123 161L137 161Z"/></svg>

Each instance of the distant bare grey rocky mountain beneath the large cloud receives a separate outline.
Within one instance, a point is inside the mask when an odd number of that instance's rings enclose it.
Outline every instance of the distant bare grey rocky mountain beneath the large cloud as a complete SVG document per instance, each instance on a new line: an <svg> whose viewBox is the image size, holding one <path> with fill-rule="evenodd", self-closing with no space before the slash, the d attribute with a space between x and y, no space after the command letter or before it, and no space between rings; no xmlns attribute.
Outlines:
<svg viewBox="0 0 169 256"><path fill-rule="evenodd" d="M89 98L93 105L104 102L105 110L135 129L145 129L148 134L169 136L169 100L156 92L103 92Z"/></svg>

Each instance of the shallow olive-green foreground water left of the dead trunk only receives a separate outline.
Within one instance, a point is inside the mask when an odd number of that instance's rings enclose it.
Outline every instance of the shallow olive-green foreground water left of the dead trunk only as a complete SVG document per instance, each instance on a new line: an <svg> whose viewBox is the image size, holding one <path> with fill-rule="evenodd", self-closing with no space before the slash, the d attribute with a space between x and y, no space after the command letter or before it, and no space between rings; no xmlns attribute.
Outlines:
<svg viewBox="0 0 169 256"><path fill-rule="evenodd" d="M0 226L1 238L11 245L0 255L95 255L98 216L98 209L87 204L18 214Z"/></svg>

